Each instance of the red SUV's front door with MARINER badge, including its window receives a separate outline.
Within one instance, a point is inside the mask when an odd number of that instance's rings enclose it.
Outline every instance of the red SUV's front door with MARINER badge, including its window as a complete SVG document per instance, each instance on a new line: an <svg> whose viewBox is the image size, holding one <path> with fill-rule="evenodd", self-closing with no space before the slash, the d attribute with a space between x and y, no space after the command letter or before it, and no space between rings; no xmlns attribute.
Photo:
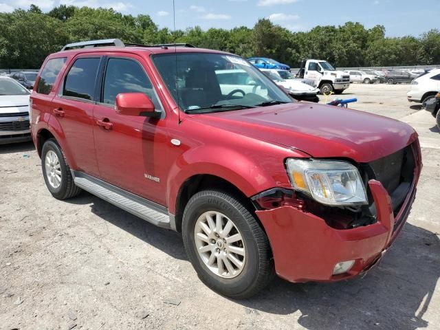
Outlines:
<svg viewBox="0 0 440 330"><path fill-rule="evenodd" d="M164 109L148 78L148 67L135 55L109 57L102 78L100 102L94 108L94 138L100 179L166 206L166 120ZM120 115L118 94L143 92L162 118ZM101 126L102 122L111 125Z"/></svg>

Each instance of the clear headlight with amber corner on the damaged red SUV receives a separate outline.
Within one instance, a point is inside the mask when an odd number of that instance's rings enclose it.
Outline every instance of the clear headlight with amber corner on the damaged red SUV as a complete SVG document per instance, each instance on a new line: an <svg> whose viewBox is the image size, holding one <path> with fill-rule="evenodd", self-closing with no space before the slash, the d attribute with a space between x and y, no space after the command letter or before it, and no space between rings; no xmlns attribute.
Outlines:
<svg viewBox="0 0 440 330"><path fill-rule="evenodd" d="M351 206L368 203L358 168L348 162L289 158L292 186L320 203Z"/></svg>

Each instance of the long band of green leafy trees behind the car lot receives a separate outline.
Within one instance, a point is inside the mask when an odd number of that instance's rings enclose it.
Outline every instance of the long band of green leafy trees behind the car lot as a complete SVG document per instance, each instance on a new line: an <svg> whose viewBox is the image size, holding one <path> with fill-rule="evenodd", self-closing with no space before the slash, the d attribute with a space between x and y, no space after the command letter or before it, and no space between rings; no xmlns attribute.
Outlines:
<svg viewBox="0 0 440 330"><path fill-rule="evenodd" d="M291 32L269 19L253 28L232 30L199 26L186 30L159 28L147 14L133 16L113 9L59 5L43 13L29 10L0 13L0 68L38 69L45 57L67 43L94 39L122 39L125 43L190 43L243 57L275 58L298 67L302 58L324 59L336 67L440 64L440 30L421 36L391 38L383 25L371 29L360 23L317 26Z"/></svg>

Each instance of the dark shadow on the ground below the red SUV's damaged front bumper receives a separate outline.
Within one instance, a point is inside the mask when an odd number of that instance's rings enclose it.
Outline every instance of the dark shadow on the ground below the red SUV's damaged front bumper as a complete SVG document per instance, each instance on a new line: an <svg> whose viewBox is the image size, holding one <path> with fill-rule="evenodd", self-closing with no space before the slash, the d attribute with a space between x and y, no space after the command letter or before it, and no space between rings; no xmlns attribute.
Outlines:
<svg viewBox="0 0 440 330"><path fill-rule="evenodd" d="M406 223L380 265L364 278L339 283L287 283L279 278L259 296L240 300L270 314L302 314L307 329L400 329L428 326L423 320L440 277L436 234Z"/></svg>

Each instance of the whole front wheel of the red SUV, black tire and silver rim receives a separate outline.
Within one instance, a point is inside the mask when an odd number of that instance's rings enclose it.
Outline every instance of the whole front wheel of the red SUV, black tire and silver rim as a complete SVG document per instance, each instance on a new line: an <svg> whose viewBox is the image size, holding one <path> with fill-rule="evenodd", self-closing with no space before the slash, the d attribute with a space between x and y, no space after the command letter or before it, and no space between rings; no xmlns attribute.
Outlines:
<svg viewBox="0 0 440 330"><path fill-rule="evenodd" d="M241 199L203 190L184 210L182 234L188 258L203 283L231 298L249 298L274 274L263 228Z"/></svg>

